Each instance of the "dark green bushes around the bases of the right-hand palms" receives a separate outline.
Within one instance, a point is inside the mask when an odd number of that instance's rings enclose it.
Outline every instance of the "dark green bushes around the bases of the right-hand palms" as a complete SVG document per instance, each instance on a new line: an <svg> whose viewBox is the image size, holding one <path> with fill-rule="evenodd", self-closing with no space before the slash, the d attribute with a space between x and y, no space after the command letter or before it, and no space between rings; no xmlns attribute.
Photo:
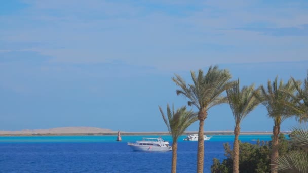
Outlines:
<svg viewBox="0 0 308 173"><path fill-rule="evenodd" d="M228 143L223 144L225 156L221 163L218 159L213 159L211 172L230 173L232 172L232 149ZM279 135L279 155L283 156L290 151L291 144L288 143L283 134ZM271 152L272 141L257 141L256 144L240 142L239 171L243 173L271 172Z"/></svg>

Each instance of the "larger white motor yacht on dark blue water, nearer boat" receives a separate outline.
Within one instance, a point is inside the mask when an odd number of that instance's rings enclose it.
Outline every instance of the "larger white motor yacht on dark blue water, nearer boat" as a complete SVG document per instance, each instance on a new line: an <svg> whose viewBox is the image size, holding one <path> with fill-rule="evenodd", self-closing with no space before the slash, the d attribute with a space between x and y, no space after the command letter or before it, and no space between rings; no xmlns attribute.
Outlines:
<svg viewBox="0 0 308 173"><path fill-rule="evenodd" d="M172 151L169 142L162 138L142 138L142 141L128 142L127 145L134 151Z"/></svg>

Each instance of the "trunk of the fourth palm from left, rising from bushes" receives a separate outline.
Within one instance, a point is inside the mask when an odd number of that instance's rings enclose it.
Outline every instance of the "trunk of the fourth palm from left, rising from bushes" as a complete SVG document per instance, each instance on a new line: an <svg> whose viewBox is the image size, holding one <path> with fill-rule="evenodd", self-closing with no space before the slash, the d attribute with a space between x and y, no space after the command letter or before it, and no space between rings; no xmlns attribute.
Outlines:
<svg viewBox="0 0 308 173"><path fill-rule="evenodd" d="M278 159L279 157L279 154L278 154L278 135L280 133L280 126L279 125L275 125L273 127L273 135L274 135L274 138L273 138L273 143L272 143L272 155L271 155L271 170L272 170L272 173L277 173L277 162L276 160Z"/></svg>

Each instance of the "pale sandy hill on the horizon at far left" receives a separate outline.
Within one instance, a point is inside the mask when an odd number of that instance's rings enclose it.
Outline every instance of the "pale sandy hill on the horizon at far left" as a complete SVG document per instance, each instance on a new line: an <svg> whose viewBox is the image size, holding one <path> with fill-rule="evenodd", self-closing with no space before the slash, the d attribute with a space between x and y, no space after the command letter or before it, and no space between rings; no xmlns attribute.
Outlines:
<svg viewBox="0 0 308 173"><path fill-rule="evenodd" d="M21 131L0 131L0 134L87 134L87 133L115 133L110 129L96 127L59 127L50 129L24 129Z"/></svg>

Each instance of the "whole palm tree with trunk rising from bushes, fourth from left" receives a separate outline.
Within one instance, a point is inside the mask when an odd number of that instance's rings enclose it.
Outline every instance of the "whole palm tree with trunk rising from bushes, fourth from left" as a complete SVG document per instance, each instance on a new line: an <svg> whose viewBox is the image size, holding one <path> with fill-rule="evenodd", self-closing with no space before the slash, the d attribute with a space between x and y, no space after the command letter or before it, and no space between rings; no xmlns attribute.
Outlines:
<svg viewBox="0 0 308 173"><path fill-rule="evenodd" d="M255 96L261 101L261 103L267 108L268 116L274 121L273 127L273 143L271 154L271 169L276 173L277 163L276 160L279 157L278 154L278 135L280 133L280 125L287 118L295 115L294 102L292 95L294 95L296 89L290 79L287 83L283 83L282 80L278 83L278 77L275 78L273 83L270 80L267 82L267 90L263 85L259 87L259 92Z"/></svg>

